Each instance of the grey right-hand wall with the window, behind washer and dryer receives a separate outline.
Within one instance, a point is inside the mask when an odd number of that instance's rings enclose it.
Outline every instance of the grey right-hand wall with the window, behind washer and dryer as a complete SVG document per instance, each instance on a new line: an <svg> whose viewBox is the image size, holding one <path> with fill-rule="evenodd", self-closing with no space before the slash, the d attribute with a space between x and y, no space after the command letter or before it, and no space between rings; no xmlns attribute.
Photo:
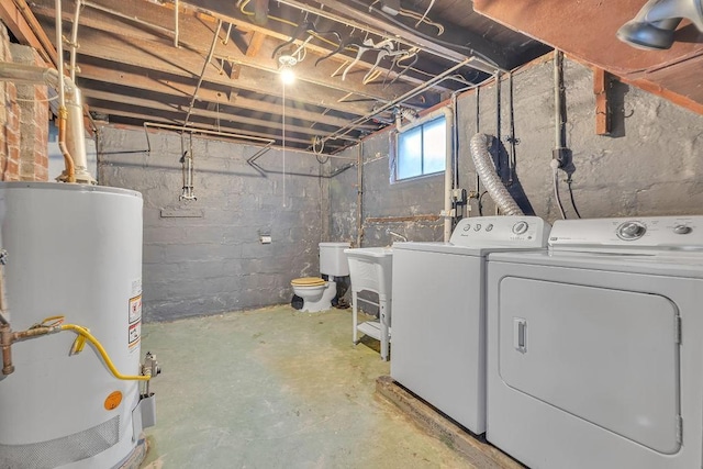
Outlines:
<svg viewBox="0 0 703 469"><path fill-rule="evenodd" d="M576 205L583 217L703 214L703 116L635 87L614 82L610 105L613 132L595 135L595 98L592 71L565 60L567 105L567 146L573 154L572 189ZM477 101L480 131L496 135L500 129L501 163L507 180L506 157L511 137L510 88L501 82L500 123L496 118L495 85L477 93L459 96L459 180L460 187L476 191L476 170L469 141L476 133ZM510 188L525 213L549 222L560 217L553 183L551 149L555 147L553 63L543 60L517 71L513 77L515 126L515 170ZM500 125L500 127L499 127ZM415 181L390 183L390 131L364 142L364 232L362 245L389 245L393 242L387 223L368 223L369 217L438 214L444 205L444 177L431 176ZM495 145L492 153L495 157ZM345 152L356 155L357 148ZM333 161L332 164L335 164ZM567 176L559 174L561 199L567 216L574 217ZM330 192L331 233L356 236L356 171L334 178ZM481 185L478 189L483 191ZM483 197L482 212L494 214L490 197ZM470 216L479 215L476 200ZM408 222L411 241L436 241L440 228L428 230L427 222ZM383 230L383 227L386 230Z"/></svg>

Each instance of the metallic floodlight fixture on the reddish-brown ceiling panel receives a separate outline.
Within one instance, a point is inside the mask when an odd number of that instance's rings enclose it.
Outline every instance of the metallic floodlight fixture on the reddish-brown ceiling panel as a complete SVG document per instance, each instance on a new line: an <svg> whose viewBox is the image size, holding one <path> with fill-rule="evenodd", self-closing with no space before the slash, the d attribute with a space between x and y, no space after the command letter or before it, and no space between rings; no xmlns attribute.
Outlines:
<svg viewBox="0 0 703 469"><path fill-rule="evenodd" d="M682 19L703 33L703 0L649 0L637 15L617 30L617 38L633 47L668 49Z"/></svg>

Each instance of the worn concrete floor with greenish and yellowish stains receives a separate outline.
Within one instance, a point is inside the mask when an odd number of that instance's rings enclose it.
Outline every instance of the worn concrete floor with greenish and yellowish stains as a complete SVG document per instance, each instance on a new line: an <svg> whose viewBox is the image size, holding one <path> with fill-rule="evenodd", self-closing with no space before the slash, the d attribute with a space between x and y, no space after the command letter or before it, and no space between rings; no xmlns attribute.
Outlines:
<svg viewBox="0 0 703 469"><path fill-rule="evenodd" d="M275 306L145 324L157 424L143 469L472 467L375 393L375 340L350 310Z"/></svg>

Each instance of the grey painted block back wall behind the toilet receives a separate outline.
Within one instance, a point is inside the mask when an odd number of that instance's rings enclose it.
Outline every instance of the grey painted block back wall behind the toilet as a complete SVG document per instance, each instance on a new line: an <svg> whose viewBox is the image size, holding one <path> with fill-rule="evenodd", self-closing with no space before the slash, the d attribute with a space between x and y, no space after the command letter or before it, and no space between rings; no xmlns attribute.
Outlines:
<svg viewBox="0 0 703 469"><path fill-rule="evenodd" d="M185 137L185 148L191 145ZM290 302L290 280L319 273L317 243L326 216L313 156L192 139L194 194L179 201L183 146L176 133L103 127L101 185L144 197L144 313L146 321L214 314ZM261 244L260 234L272 242Z"/></svg>

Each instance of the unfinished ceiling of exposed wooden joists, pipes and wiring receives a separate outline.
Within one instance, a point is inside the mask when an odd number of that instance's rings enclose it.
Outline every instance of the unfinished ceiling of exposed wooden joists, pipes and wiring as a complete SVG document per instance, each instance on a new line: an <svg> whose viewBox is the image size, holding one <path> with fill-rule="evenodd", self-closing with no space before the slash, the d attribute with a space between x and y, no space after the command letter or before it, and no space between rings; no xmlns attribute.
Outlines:
<svg viewBox="0 0 703 469"><path fill-rule="evenodd" d="M13 2L55 47L55 1ZM63 27L96 120L324 153L549 51L465 0L64 1Z"/></svg>

